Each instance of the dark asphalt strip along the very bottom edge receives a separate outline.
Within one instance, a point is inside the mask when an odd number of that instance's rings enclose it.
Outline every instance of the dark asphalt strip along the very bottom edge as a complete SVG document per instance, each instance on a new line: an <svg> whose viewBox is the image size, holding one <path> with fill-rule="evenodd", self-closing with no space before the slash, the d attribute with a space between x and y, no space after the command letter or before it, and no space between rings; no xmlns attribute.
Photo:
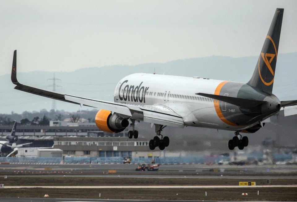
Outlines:
<svg viewBox="0 0 297 202"><path fill-rule="evenodd" d="M129 200L129 199L51 199L51 198L0 198L0 202L119 202L119 201L125 201L125 202L142 202L142 201L158 201L158 202L216 202L216 201L211 201L211 200ZM232 201L232 202L242 202L242 201ZM245 201L249 202L249 201ZM252 202L262 202L262 201L252 201ZM269 201L266 201L269 202Z"/></svg>

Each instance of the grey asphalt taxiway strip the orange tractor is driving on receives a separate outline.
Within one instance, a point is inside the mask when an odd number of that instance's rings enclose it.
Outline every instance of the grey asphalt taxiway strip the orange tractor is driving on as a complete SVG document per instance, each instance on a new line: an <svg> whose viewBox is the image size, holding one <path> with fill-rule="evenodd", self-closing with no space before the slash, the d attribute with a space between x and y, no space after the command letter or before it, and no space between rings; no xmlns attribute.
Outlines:
<svg viewBox="0 0 297 202"><path fill-rule="evenodd" d="M56 164L56 165L40 165L40 164L1 164L0 172L25 172L25 171L45 171L45 168L51 168L52 171L63 172L83 172L96 173L108 170L117 170L117 173L133 174L136 172L135 164ZM213 173L211 169L217 169L218 172L228 172L230 174L238 174L239 172L248 173L291 173L296 172L297 165L205 165L205 164L180 164L180 165L160 165L159 173ZM181 173L182 172L182 173Z"/></svg>

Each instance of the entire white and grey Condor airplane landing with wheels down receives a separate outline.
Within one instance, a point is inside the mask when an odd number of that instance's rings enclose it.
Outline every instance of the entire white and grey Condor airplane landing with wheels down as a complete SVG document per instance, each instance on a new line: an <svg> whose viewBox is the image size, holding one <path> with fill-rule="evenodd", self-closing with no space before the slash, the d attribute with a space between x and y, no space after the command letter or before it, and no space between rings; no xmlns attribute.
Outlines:
<svg viewBox="0 0 297 202"><path fill-rule="evenodd" d="M282 8L275 11L248 83L136 73L118 82L114 102L108 102L20 84L16 77L16 51L11 81L17 90L100 109L95 122L105 132L123 131L129 125L128 119L151 123L156 132L149 141L151 150L155 147L163 150L169 145L169 138L161 134L166 126L235 131L229 140L229 149L243 149L248 146L248 137L242 137L240 132L254 133L282 107L297 104L297 100L280 101L272 94L283 11ZM130 130L128 137L137 138L138 131Z"/></svg>

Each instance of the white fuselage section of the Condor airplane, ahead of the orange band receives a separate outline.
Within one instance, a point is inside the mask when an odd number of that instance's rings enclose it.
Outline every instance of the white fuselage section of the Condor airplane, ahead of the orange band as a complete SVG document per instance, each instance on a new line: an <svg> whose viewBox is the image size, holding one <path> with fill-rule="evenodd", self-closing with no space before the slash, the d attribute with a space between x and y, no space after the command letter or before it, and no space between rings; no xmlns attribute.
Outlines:
<svg viewBox="0 0 297 202"><path fill-rule="evenodd" d="M118 82L114 101L137 105L164 105L181 116L185 125L222 130L242 130L251 127L252 125L227 125L219 118L213 99L196 95L214 94L222 82L194 77L136 73Z"/></svg>

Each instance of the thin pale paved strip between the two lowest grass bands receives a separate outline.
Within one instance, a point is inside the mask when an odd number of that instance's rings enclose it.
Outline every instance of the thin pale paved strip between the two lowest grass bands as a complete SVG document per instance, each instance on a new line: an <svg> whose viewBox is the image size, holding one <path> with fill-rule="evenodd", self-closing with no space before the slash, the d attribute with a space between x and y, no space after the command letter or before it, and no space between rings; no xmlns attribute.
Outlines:
<svg viewBox="0 0 297 202"><path fill-rule="evenodd" d="M238 186L238 185L213 185L213 186L5 186L5 189L19 188L47 188L47 189L171 189L171 188L272 188L272 187L297 187L297 185L256 185L256 186Z"/></svg>

